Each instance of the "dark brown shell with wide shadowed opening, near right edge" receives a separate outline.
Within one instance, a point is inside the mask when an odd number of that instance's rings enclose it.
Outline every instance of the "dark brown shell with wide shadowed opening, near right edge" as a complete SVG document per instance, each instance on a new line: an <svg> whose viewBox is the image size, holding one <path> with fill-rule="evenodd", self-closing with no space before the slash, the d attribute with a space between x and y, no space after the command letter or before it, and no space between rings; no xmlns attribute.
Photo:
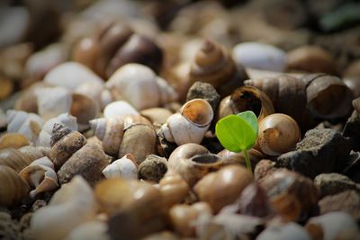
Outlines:
<svg viewBox="0 0 360 240"><path fill-rule="evenodd" d="M351 111L353 93L337 76L313 74L302 81L306 84L307 108L314 118L342 118Z"/></svg>

